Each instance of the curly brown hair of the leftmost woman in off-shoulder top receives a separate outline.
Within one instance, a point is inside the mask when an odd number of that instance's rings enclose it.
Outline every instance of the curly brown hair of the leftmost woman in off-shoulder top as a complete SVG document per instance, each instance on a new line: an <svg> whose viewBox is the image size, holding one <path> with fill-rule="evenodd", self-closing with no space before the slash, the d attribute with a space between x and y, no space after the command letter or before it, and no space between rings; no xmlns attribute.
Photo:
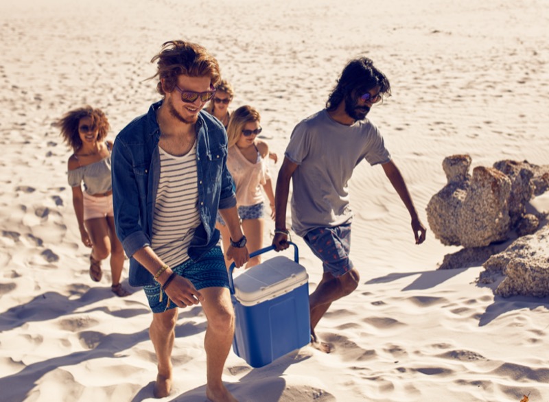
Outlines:
<svg viewBox="0 0 549 402"><path fill-rule="evenodd" d="M105 139L108 130L110 130L108 119L101 109L84 106L83 108L73 109L65 113L65 115L55 123L55 126L60 128L60 135L63 137L63 141L65 141L65 143L75 152L82 147L82 140L80 139L80 134L78 132L78 123L80 123L80 119L83 119L84 117L89 117L93 128L97 128L99 131L97 141Z"/></svg>

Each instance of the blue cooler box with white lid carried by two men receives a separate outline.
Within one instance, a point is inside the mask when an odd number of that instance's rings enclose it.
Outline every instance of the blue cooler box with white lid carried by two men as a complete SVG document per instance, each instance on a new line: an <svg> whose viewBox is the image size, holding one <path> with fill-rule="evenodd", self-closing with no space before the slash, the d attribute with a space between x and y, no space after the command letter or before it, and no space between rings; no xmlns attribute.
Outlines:
<svg viewBox="0 0 549 402"><path fill-rule="evenodd" d="M229 269L236 319L233 350L252 367L265 366L311 342L309 276L297 263L297 246L290 244L294 261L273 257L235 279L234 263ZM269 250L274 247L257 250L250 257Z"/></svg>

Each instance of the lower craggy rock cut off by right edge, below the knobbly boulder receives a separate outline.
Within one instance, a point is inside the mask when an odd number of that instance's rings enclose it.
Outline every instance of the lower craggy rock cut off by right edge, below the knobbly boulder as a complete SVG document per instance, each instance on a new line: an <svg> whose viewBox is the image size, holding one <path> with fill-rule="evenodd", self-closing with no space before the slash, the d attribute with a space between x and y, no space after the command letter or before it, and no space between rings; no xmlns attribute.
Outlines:
<svg viewBox="0 0 549 402"><path fill-rule="evenodd" d="M499 296L549 296L549 224L533 235L519 237L483 266L478 283L503 278L494 290Z"/></svg>

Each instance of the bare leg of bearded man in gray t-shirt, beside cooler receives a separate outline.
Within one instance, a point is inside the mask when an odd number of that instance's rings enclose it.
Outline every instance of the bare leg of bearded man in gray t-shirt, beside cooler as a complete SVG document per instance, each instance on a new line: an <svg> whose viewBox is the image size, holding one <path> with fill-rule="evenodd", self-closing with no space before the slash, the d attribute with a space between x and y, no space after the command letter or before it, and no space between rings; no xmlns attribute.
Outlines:
<svg viewBox="0 0 549 402"><path fill-rule="evenodd" d="M323 274L322 280L318 283L314 292L309 296L309 311L311 316L311 345L319 351L331 352L331 345L321 342L314 331L316 324L328 311L331 303L348 294L358 287L360 275L358 270L353 268L342 276L334 276L329 272Z"/></svg>

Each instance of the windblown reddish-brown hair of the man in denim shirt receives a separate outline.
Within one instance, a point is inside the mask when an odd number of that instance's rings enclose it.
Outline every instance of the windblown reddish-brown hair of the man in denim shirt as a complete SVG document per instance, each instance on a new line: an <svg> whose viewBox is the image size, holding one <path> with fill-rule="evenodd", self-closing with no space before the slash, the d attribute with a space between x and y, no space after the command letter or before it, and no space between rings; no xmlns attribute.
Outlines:
<svg viewBox="0 0 549 402"><path fill-rule="evenodd" d="M156 91L161 95L174 91L179 75L207 76L213 86L221 80L218 60L215 60L205 47L197 43L170 40L162 45L160 53L154 56L150 62L157 62L156 74L150 79L159 78Z"/></svg>

